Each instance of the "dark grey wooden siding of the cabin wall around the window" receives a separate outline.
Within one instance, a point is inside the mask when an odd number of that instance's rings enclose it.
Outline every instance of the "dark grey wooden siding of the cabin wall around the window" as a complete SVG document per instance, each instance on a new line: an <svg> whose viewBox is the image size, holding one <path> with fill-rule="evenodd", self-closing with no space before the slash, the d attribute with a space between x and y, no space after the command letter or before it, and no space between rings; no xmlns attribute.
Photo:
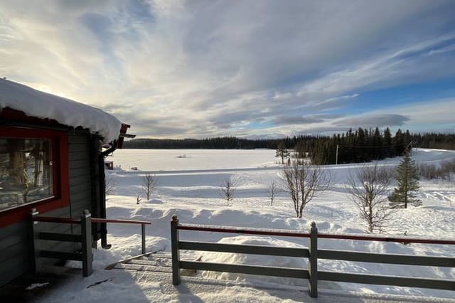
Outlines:
<svg viewBox="0 0 455 303"><path fill-rule="evenodd" d="M70 205L65 208L58 208L48 213L41 213L43 216L79 218L82 211L92 211L93 197L93 163L97 161L99 145L94 147L97 138L90 134L68 134L68 159L69 159L69 186ZM52 231L54 233L80 233L79 225L38 223L37 230ZM30 240L28 221L23 221L0 228L0 286L22 275L30 269L28 248ZM50 240L36 241L41 250L60 250L73 252L79 248L77 243L58 243ZM38 266L46 266L55 263L55 259L40 258Z"/></svg>

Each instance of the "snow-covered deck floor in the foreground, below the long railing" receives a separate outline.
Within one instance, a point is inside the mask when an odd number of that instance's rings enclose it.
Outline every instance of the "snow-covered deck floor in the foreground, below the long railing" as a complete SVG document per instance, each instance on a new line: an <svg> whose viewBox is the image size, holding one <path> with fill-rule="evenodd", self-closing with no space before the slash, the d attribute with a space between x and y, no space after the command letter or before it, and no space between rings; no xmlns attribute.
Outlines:
<svg viewBox="0 0 455 303"><path fill-rule="evenodd" d="M51 287L48 286L48 287ZM454 302L453 299L323 289L317 299L306 287L182 277L172 285L171 273L132 270L97 270L82 279L70 277L64 285L48 289L38 302Z"/></svg>

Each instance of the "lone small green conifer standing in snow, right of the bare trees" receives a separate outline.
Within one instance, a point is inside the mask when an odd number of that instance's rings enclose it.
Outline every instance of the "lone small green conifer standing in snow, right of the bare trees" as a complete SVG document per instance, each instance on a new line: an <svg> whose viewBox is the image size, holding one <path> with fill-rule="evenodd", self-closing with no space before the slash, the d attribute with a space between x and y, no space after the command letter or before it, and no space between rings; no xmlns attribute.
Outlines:
<svg viewBox="0 0 455 303"><path fill-rule="evenodd" d="M422 203L415 197L415 191L419 189L419 175L415 161L411 159L408 151L405 151L400 165L397 167L398 187L389 196L391 208L407 208L408 204L419 206Z"/></svg>

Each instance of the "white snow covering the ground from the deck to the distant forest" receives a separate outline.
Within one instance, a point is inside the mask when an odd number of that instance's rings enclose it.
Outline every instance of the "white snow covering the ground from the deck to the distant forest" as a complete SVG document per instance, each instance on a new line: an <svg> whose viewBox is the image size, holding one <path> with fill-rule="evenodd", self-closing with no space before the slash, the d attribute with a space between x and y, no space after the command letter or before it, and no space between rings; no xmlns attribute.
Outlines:
<svg viewBox="0 0 455 303"><path fill-rule="evenodd" d="M166 251L171 249L170 221L176 214L181 223L230 225L252 228L279 228L307 232L309 224L316 222L321 233L365 234L366 225L358 218L354 204L346 191L346 177L357 164L325 166L331 171L333 185L328 191L314 198L304 209L301 219L295 212L286 193L279 193L273 206L267 189L272 181L279 182L279 166L274 150L117 150L109 160L114 161L116 169L109 171L107 177L114 183L114 191L107 201L108 218L127 218L148 220L146 244L147 251ZM417 149L412 159L417 163L434 163L454 159L454 151ZM396 166L400 158L380 161L380 165ZM372 165L372 164L361 164ZM131 168L137 168L132 170ZM157 178L156 191L151 200L146 201L141 191L144 174L154 174ZM455 176L454 176L455 177ZM234 200L230 205L221 198L221 186L227 179L236 184ZM452 178L453 179L453 178ZM395 213L386 230L387 235L400 235L410 238L455 238L455 186L451 181L420 181L418 198L422 206L410 206ZM390 188L392 190L392 188ZM137 196L141 202L137 204ZM101 299L99 292L109 302L301 302L306 301L306 280L295 280L254 275L237 275L218 272L198 272L203 279L221 279L223 283L233 283L216 293L213 290L179 297L166 294L157 287L157 281L145 275L129 275L124 272L104 271L107 264L141 251L141 235L138 226L108 226L108 242L111 250L96 250L95 273L85 280L75 280L65 287L51 292L45 302L61 302L70 293L70 301L87 302L93 296ZM222 233L181 232L182 240L212 241L220 243L276 245L287 247L306 247L306 239L259 237ZM379 243L353 240L319 240L319 248L354 250L378 253L397 253L409 255L434 255L453 257L455 248L450 245L403 245L400 243ZM183 252L182 259L206 262L242 263L250 265L271 265L306 268L306 260L292 257L270 257L258 255L237 255L214 252ZM411 267L405 265L382 265L365 262L346 262L320 260L319 270L352 272L362 274L402 275L455 280L455 269L444 267ZM128 277L127 277L128 276ZM87 289L87 285L98 280L107 280L100 287ZM85 282L84 282L85 281ZM243 286L242 286L243 285ZM261 292L257 287L268 289L297 289L302 299L282 297L282 292ZM122 292L119 292L122 289ZM210 289L210 287L206 288ZM242 290L239 290L242 289ZM382 294L382 299L390 295L414 296L417 301L455 299L455 291L418 289L408 287L387 287L358 285L342 282L319 282L321 294ZM161 289L162 290L162 289ZM65 293L66 292L66 293ZM242 295L244 292L244 295ZM90 297L92 296L92 297ZM107 299L106 299L107 298ZM306 299L305 299L306 298ZM319 302L342 301L323 299ZM408 298L409 299L409 298ZM311 301L312 299L308 299ZM400 299L398 299L400 300ZM66 300L65 300L66 301ZM368 299L366 299L368 301ZM98 301L99 302L99 301ZM350 302L349 299L343 302Z"/></svg>

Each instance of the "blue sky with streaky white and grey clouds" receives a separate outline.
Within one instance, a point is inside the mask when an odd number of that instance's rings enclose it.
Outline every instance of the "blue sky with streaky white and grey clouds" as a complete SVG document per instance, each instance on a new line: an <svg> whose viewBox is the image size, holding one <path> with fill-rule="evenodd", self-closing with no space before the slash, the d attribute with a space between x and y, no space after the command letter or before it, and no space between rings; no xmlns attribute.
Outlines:
<svg viewBox="0 0 455 303"><path fill-rule="evenodd" d="M455 132L454 16L451 0L0 0L0 77L138 137Z"/></svg>

